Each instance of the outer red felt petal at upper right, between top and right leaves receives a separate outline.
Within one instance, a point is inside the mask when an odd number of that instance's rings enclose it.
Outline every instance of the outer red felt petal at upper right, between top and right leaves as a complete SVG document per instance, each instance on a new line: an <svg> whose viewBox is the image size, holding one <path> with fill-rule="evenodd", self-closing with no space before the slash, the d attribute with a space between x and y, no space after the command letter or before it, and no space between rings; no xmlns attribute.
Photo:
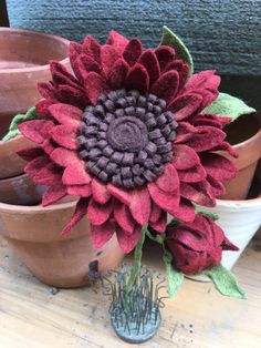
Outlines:
<svg viewBox="0 0 261 348"><path fill-rule="evenodd" d="M220 76L215 74L215 70L206 70L194 74L186 85L186 90L217 90L220 84Z"/></svg>

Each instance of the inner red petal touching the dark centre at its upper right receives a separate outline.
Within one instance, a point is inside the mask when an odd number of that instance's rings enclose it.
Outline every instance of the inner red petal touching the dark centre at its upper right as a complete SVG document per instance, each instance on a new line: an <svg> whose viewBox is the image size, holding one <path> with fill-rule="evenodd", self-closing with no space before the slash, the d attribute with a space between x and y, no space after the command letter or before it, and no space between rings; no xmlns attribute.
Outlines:
<svg viewBox="0 0 261 348"><path fill-rule="evenodd" d="M168 105L177 121L189 117L201 104L202 98L198 94L188 93L176 98Z"/></svg>

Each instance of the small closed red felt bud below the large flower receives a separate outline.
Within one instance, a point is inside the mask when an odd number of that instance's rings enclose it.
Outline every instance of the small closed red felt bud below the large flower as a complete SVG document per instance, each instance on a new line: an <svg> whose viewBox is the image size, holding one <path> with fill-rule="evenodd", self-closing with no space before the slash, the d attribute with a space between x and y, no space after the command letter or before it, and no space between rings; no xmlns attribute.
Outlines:
<svg viewBox="0 0 261 348"><path fill-rule="evenodd" d="M201 214L192 223L167 227L166 234L173 266L187 275L218 266L222 250L238 250L223 231L210 217Z"/></svg>

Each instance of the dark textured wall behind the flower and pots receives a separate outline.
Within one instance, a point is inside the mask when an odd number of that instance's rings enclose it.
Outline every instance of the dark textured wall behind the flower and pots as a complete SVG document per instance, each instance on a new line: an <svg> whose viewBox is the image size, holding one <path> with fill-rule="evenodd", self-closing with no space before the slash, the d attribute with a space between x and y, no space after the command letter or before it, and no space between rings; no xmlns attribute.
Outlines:
<svg viewBox="0 0 261 348"><path fill-rule="evenodd" d="M1 2L1 21L4 0ZM216 69L221 89L261 110L261 1L7 0L11 27L103 43L115 29L156 47L168 25L189 48L197 70Z"/></svg>

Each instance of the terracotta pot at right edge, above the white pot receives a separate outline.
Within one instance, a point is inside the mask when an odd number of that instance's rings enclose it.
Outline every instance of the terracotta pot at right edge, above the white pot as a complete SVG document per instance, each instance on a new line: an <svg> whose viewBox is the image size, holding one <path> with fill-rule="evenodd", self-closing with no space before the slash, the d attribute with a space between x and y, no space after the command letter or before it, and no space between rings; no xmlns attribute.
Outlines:
<svg viewBox="0 0 261 348"><path fill-rule="evenodd" d="M260 121L253 114L244 115L227 129L228 140L239 157L233 158L223 154L234 163L239 173L237 177L225 182L227 193L221 199L244 199L248 195L258 161L261 157Z"/></svg>

